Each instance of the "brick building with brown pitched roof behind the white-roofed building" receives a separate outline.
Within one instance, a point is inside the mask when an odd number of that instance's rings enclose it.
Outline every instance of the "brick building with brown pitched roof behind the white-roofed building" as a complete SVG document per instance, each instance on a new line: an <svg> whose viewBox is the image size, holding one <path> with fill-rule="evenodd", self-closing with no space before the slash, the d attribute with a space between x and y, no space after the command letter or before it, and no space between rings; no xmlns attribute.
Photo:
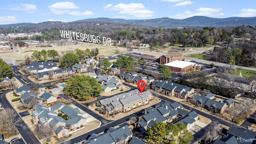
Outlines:
<svg viewBox="0 0 256 144"><path fill-rule="evenodd" d="M181 53L165 54L165 55L160 56L159 64L167 64L174 60L182 60L182 59L183 59L183 56Z"/></svg>

